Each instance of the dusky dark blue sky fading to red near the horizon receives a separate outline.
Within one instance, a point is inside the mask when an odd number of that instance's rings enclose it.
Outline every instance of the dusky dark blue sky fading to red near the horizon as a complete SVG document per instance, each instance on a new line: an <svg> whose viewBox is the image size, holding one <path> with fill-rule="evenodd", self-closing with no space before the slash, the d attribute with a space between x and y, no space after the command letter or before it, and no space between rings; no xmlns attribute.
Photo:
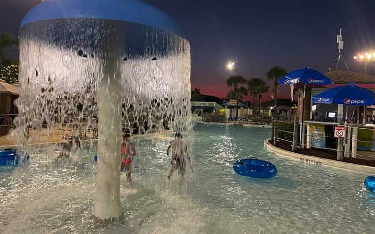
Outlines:
<svg viewBox="0 0 375 234"><path fill-rule="evenodd" d="M0 32L18 35L23 16L40 0L0 1ZM343 56L349 69L363 72L353 56L375 51L374 1L151 1L185 29L191 44L191 85L225 98L228 61L234 73L259 77L272 66L288 71L309 66L325 72L337 56L343 29ZM108 0L110 4L110 0ZM17 50L9 55L17 56ZM374 75L374 63L370 65ZM342 64L342 69L344 66ZM271 83L270 83L271 85ZM264 95L266 101L270 92ZM289 98L289 88L281 88ZM245 100L251 100L248 96Z"/></svg>

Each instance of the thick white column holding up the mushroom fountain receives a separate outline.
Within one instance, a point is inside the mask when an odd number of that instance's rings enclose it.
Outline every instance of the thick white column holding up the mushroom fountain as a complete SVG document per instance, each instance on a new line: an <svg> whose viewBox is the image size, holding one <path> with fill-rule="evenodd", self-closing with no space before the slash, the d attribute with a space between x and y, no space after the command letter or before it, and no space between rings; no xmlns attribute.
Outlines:
<svg viewBox="0 0 375 234"><path fill-rule="evenodd" d="M112 55L113 56L113 55ZM116 57L116 56L113 56ZM100 219L121 216L121 102L122 81L116 60L104 61L98 100L98 176L92 214Z"/></svg>

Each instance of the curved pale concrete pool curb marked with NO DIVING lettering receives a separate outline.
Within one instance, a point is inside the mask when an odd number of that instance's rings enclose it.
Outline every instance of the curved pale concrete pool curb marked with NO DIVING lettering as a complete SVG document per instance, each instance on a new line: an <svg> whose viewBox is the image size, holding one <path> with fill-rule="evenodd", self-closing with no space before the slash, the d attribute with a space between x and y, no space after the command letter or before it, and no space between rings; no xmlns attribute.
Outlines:
<svg viewBox="0 0 375 234"><path fill-rule="evenodd" d="M269 139L266 139L264 141L264 147L267 150L270 150L279 156L292 158L292 159L299 160L304 163L313 164L317 166L321 166L321 165L329 166L329 167L335 167L335 168L340 168L340 169L349 170L349 171L362 172L362 173L375 175L375 167L369 167L369 166L364 166L364 165L358 165L358 164L353 164L353 163L340 162L340 161L335 161L331 159L298 154L298 153L283 150L276 146L273 146L268 141Z"/></svg>

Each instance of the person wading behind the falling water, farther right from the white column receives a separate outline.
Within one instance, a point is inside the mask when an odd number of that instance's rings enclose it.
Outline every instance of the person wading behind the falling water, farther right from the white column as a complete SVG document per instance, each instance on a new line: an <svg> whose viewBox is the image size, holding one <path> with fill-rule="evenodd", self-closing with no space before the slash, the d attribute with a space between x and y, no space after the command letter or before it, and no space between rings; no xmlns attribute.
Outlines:
<svg viewBox="0 0 375 234"><path fill-rule="evenodd" d="M189 153L187 152L187 145L182 141L182 135L180 133L176 133L174 135L175 139L172 140L169 144L167 155L169 156L169 152L172 151L172 161L170 161L170 164L172 164L172 167L170 169L170 172L167 176L168 180L170 180L170 177L172 176L173 172L178 169L178 173L181 174L181 179L184 177L185 174L185 159L184 156L187 156L187 161L190 164L191 168L191 160ZM193 169L191 168L191 171Z"/></svg>

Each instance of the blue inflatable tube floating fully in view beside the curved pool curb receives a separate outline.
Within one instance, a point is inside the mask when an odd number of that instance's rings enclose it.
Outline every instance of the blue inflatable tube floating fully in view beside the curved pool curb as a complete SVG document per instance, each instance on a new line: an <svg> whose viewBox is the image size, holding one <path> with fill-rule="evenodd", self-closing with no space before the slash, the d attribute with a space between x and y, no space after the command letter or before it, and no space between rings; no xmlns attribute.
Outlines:
<svg viewBox="0 0 375 234"><path fill-rule="evenodd" d="M271 162L259 160L256 157L244 158L233 164L233 169L241 176L252 178L272 178L277 174L277 168Z"/></svg>

